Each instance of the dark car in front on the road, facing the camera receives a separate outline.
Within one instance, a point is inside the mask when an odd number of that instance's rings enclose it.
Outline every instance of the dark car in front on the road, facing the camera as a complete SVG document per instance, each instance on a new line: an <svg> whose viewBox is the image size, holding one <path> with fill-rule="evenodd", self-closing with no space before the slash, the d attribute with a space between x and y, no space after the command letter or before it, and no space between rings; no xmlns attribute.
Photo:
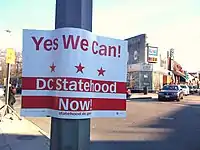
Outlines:
<svg viewBox="0 0 200 150"><path fill-rule="evenodd" d="M176 100L183 99L184 92L179 85L165 85L158 93L158 100Z"/></svg>

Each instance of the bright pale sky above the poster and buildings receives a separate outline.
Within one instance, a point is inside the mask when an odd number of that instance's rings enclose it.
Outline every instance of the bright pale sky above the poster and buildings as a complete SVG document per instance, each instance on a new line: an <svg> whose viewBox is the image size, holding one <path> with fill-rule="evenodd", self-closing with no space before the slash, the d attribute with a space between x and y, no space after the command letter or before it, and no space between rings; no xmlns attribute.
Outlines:
<svg viewBox="0 0 200 150"><path fill-rule="evenodd" d="M0 0L0 48L22 49L22 29L54 29L55 0ZM147 42L188 71L200 70L199 0L93 0L93 32L125 39L147 34ZM4 30L9 29L11 34Z"/></svg>

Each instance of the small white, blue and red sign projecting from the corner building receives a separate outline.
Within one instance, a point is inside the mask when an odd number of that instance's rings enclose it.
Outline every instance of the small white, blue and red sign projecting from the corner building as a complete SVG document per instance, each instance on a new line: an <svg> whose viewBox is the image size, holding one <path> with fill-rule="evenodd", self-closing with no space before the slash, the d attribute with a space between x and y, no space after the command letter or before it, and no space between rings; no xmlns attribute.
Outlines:
<svg viewBox="0 0 200 150"><path fill-rule="evenodd" d="M147 47L147 62L157 63L158 62L158 47Z"/></svg>

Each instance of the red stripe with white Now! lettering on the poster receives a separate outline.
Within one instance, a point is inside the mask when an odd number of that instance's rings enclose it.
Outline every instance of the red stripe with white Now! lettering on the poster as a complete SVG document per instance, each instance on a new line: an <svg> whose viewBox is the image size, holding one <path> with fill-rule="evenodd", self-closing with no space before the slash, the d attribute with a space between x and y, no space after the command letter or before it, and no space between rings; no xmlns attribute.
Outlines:
<svg viewBox="0 0 200 150"><path fill-rule="evenodd" d="M75 103L91 102L90 98L62 98L63 102L69 99L68 110L72 110L69 105L75 108ZM74 104L72 104L72 101ZM62 106L59 109L59 97L51 96L22 96L22 108L49 108L55 110L64 110ZM88 103L89 104L89 103ZM126 100L122 99L102 99L93 98L92 103L89 105L90 110L126 110ZM80 107L76 111L86 111L88 109L81 109Z"/></svg>

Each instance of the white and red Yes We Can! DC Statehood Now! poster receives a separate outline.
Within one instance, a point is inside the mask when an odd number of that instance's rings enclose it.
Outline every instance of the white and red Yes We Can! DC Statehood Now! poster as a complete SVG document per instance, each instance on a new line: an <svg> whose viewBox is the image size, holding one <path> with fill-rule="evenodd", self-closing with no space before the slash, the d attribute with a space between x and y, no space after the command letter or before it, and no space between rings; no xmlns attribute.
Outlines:
<svg viewBox="0 0 200 150"><path fill-rule="evenodd" d="M126 116L128 43L77 28L23 31L22 116Z"/></svg>

